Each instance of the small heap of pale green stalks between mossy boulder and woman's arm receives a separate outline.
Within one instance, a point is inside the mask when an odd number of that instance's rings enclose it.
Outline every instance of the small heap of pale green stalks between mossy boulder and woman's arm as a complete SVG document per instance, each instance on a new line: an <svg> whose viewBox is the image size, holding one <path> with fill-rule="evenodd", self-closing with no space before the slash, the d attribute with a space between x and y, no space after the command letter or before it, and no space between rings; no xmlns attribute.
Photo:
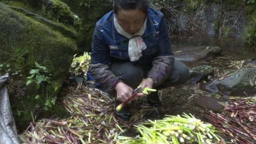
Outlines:
<svg viewBox="0 0 256 144"><path fill-rule="evenodd" d="M91 62L90 53L84 52L84 55L76 57L74 55L73 62L70 66L70 74L75 74L76 76L84 75L86 78L86 72L88 71Z"/></svg>

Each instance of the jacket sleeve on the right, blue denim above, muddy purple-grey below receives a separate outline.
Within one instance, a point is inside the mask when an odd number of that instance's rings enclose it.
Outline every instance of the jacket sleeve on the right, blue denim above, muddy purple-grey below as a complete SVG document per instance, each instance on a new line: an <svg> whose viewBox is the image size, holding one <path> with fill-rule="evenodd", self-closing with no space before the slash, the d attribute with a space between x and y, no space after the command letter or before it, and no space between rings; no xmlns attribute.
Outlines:
<svg viewBox="0 0 256 144"><path fill-rule="evenodd" d="M174 64L171 40L164 17L160 22L159 34L157 54L147 76L154 81L154 86L162 84L168 78Z"/></svg>

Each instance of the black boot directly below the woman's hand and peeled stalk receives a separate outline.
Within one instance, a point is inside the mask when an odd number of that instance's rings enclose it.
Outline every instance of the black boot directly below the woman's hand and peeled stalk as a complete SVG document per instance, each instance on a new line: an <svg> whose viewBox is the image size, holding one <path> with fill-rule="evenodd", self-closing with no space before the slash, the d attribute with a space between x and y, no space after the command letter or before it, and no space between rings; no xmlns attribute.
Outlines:
<svg viewBox="0 0 256 144"><path fill-rule="evenodd" d="M115 112L118 115L118 117L120 117L122 120L130 120L130 118L132 117L132 114L130 113L130 107L128 106L128 104L126 104L126 106L124 106L119 112L116 111L116 107L121 104L121 102L116 99L115 100Z"/></svg>

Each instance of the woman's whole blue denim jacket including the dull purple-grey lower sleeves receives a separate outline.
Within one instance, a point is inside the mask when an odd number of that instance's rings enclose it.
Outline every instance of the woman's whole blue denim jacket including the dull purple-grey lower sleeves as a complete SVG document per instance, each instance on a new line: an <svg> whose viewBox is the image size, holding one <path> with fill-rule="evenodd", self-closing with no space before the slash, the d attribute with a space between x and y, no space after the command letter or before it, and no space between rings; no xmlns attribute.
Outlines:
<svg viewBox="0 0 256 144"><path fill-rule="evenodd" d="M147 77L153 80L154 86L158 86L168 78L174 63L170 36L160 11L148 9L147 28L141 37L147 48L136 63L148 71ZM128 43L128 38L118 34L114 27L113 11L96 23L89 71L105 92L112 92L122 81L120 76L112 73L110 66L114 61L130 61Z"/></svg>

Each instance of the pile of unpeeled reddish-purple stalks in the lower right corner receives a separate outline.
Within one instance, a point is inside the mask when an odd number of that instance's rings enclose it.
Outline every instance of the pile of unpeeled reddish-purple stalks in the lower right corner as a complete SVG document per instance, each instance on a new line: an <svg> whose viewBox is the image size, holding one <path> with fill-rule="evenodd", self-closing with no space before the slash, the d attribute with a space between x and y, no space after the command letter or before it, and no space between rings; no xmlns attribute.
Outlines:
<svg viewBox="0 0 256 144"><path fill-rule="evenodd" d="M206 118L235 144L256 144L256 96L231 97L222 103L224 110L215 114L208 110Z"/></svg>

